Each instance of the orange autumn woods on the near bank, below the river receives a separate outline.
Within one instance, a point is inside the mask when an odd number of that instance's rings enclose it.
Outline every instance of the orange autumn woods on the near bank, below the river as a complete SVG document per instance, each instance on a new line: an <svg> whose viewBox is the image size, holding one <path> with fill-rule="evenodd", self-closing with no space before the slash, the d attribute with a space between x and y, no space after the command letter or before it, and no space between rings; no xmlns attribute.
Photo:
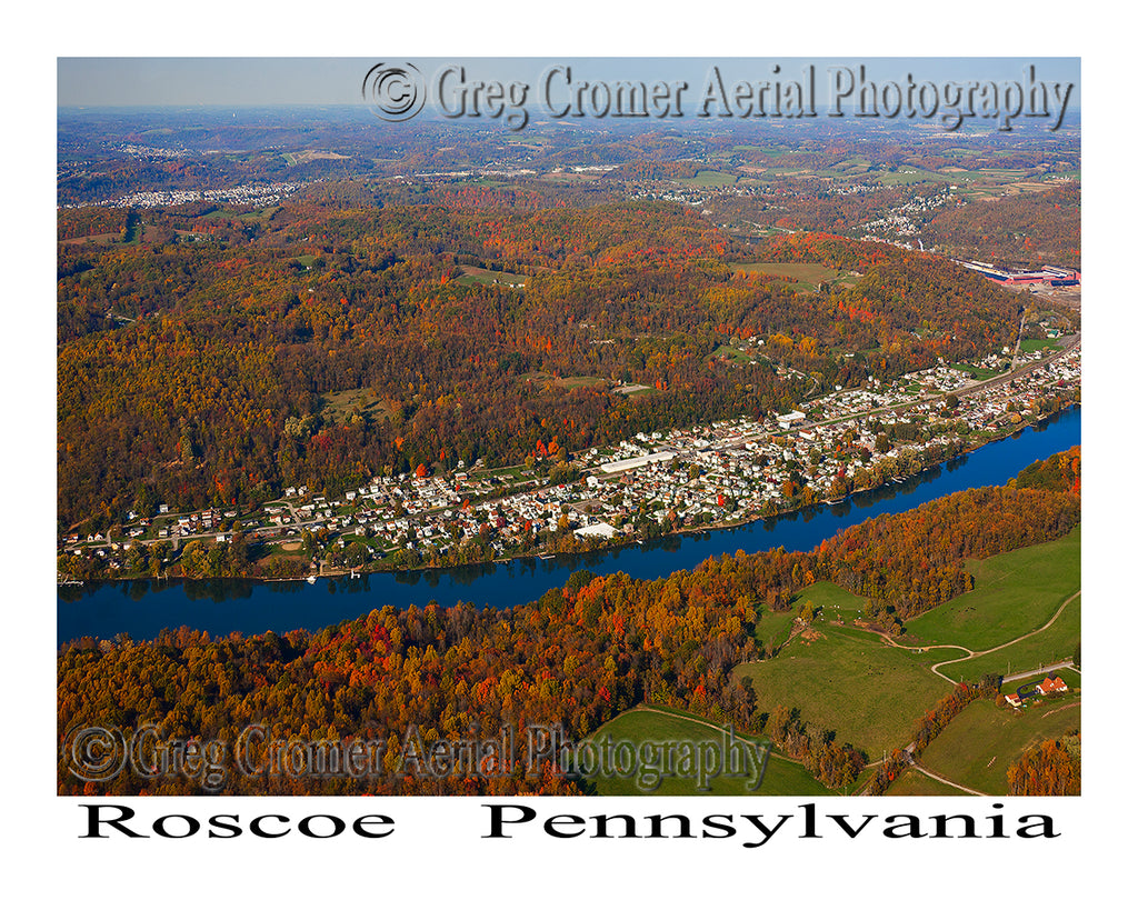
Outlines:
<svg viewBox="0 0 1138 910"><path fill-rule="evenodd" d="M1042 521L1040 515L1066 520ZM989 515L993 529L981 529ZM793 708L769 718L756 711L753 688L733 668L759 656L756 622L780 592L814 580L873 576L882 593L900 592L906 609L931 607L957 593L943 578L966 578L962 561L1058 536L1078 519L1066 493L996 488L966 490L916 512L852 528L810 553L724 555L693 571L644 581L626 574L575 573L537 602L505 610L470 604L373 610L320 632L226 638L189 630L156 642L85 639L58 662L59 729L152 723L166 737L234 743L251 723L271 736L386 744L384 772L366 780L245 778L234 793L469 793L488 786L549 786L552 768L527 779L517 770L490 785L477 776L424 779L401 768L405 731L426 743L496 736L508 726L560 725L575 741L641 703L692 711L736 729L766 733L832 787L857 777L866 761ZM890 527L891 526L891 527ZM941 556L943 530L960 541ZM868 548L868 541L876 546ZM947 592L942 594L941 592ZM882 595L883 596L883 595ZM885 602L885 609L899 604ZM60 753L61 793L84 792ZM545 784L538 784L544 780ZM198 792L184 776L119 776L86 792ZM569 787L570 781L555 786Z"/></svg>

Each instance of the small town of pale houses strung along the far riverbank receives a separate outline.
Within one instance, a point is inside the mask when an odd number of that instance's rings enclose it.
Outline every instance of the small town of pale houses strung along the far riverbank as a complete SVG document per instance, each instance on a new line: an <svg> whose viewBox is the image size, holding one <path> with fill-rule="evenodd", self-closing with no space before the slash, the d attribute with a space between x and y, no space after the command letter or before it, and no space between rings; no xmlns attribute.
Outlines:
<svg viewBox="0 0 1138 910"><path fill-rule="evenodd" d="M221 574L236 540L265 554L245 566L249 574L310 580L643 543L900 482L1079 394L1073 336L1050 348L835 389L761 421L637 433L616 447L508 468L477 462L435 475L373 477L339 495L289 487L251 508L180 514L159 504L151 515L130 513L107 536L68 535L59 581Z"/></svg>

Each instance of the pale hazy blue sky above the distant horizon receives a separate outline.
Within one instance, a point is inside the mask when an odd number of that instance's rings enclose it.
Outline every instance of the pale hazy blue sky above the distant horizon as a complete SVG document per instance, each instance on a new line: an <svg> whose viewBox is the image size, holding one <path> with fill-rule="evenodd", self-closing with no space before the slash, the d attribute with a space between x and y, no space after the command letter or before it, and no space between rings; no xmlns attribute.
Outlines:
<svg viewBox="0 0 1138 910"><path fill-rule="evenodd" d="M363 77L386 58L154 58L60 57L57 61L59 106L129 105L335 105L360 104ZM1070 108L1080 104L1078 58L873 58L873 57L543 57L543 58L439 58L405 57L428 82L444 66L462 64L468 80L521 81L536 84L542 73L556 64L572 67L577 80L637 78L685 80L693 89L703 84L709 68L718 64L725 78L769 80L778 64L784 77L799 78L806 64L814 64L818 100L828 101L827 67L867 67L867 77L901 82L912 74L917 82L970 80L1022 81L1024 68L1036 65L1037 78L1073 82Z"/></svg>

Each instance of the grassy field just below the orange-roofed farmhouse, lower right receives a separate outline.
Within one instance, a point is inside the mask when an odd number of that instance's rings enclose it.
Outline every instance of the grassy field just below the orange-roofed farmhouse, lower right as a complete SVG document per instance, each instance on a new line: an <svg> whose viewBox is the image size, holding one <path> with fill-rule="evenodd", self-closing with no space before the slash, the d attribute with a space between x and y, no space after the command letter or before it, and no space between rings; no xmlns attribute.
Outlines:
<svg viewBox="0 0 1138 910"><path fill-rule="evenodd" d="M1066 673L1059 675L1067 681ZM1004 795L1007 769L1013 762L1036 743L1063 736L1080 723L1077 695L1039 702L1020 712L987 698L978 700L929 744L921 762L949 780Z"/></svg>

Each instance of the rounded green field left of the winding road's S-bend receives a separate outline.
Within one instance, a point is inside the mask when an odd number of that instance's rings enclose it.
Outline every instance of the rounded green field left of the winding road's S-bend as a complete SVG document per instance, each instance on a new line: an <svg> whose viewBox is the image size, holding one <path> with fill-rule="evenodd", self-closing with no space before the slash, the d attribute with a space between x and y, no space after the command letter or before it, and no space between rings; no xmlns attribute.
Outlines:
<svg viewBox="0 0 1138 910"><path fill-rule="evenodd" d="M813 640L811 640L813 639ZM871 758L909 742L913 726L950 684L860 629L816 626L777 657L735 669L750 678L759 711L798 708L802 719L834 730Z"/></svg>

